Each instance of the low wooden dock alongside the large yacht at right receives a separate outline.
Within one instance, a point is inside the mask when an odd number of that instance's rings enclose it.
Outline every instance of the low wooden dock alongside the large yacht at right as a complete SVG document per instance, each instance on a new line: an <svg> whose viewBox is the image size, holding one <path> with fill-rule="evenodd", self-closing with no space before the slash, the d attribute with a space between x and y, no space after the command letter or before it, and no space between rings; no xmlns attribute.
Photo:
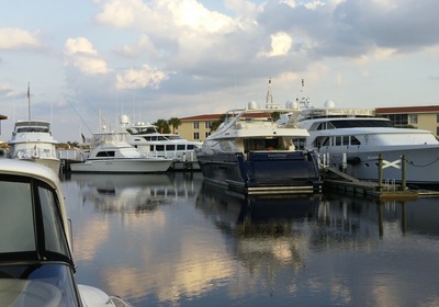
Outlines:
<svg viewBox="0 0 439 307"><path fill-rule="evenodd" d="M416 200L419 197L439 197L439 191L403 189L401 184L380 184L350 177L335 168L325 168L323 187L356 196L375 197L383 201Z"/></svg>

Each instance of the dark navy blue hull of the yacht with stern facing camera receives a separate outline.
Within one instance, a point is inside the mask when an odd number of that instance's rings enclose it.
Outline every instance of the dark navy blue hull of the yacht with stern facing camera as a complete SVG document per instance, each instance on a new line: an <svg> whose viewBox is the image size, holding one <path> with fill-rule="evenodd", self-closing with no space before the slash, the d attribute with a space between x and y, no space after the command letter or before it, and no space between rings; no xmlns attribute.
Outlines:
<svg viewBox="0 0 439 307"><path fill-rule="evenodd" d="M247 194L313 193L322 185L313 152L200 151L198 159L204 180Z"/></svg>

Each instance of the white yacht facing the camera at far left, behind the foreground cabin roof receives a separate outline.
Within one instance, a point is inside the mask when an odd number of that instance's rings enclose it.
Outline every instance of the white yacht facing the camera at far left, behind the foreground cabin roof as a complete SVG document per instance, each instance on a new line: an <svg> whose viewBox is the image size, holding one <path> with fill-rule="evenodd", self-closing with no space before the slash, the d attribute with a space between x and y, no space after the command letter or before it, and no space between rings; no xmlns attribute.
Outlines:
<svg viewBox="0 0 439 307"><path fill-rule="evenodd" d="M9 158L29 160L49 167L59 173L58 144L52 136L50 124L43 121L19 121L15 123Z"/></svg>

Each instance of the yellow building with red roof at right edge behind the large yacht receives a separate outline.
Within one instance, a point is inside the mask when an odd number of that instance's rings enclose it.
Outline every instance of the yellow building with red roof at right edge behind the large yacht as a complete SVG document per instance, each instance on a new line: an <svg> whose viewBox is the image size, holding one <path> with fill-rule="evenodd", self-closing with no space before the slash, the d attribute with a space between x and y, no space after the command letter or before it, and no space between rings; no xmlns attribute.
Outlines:
<svg viewBox="0 0 439 307"><path fill-rule="evenodd" d="M414 126L439 135L439 105L376 107L375 114L390 118L396 127Z"/></svg>

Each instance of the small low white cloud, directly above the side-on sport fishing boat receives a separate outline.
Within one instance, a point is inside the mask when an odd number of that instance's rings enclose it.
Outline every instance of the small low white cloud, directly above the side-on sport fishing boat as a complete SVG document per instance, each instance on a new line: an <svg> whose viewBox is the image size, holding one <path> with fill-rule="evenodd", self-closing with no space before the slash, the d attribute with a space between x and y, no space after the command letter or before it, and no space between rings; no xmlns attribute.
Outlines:
<svg viewBox="0 0 439 307"><path fill-rule="evenodd" d="M168 79L168 76L157 68L150 68L144 65L140 69L128 69L116 77L117 89L142 89L158 88L161 81Z"/></svg>

